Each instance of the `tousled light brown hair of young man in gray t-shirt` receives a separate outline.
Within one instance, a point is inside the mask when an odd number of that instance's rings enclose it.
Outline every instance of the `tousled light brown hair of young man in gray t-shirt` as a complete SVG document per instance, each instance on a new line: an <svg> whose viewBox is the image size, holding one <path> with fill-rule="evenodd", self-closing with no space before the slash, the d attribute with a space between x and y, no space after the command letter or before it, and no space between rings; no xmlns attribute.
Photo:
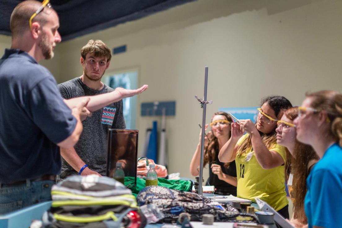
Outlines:
<svg viewBox="0 0 342 228"><path fill-rule="evenodd" d="M89 53L94 54L95 57L107 57L107 63L111 59L110 49L102 40L89 40L81 49L82 58L85 60Z"/></svg>

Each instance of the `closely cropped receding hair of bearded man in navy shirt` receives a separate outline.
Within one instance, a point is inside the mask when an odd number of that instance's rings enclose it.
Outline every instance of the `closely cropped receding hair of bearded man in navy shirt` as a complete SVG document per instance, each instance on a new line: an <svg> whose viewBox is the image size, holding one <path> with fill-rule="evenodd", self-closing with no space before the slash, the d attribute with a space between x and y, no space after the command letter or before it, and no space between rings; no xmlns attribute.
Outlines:
<svg viewBox="0 0 342 228"><path fill-rule="evenodd" d="M15 6L10 19L10 29L13 36L21 36L23 32L30 29L29 20L30 17L38 10L42 5L41 2L35 0L26 0ZM48 9L45 7L39 14L37 14L33 19L33 22L39 22L41 26L47 23L46 12ZM51 13L51 11L49 11Z"/></svg>

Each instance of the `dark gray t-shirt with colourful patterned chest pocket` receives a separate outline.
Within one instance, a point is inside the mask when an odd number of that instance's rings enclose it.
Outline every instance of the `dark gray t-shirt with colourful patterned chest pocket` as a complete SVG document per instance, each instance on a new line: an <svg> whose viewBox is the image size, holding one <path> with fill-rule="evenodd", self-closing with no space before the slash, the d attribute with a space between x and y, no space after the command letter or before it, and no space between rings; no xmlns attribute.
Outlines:
<svg viewBox="0 0 342 228"><path fill-rule="evenodd" d="M90 89L80 78L58 84L58 89L64 99L80 96L92 96L114 91L107 85L101 90ZM126 124L122 113L122 100L107 105L93 112L91 117L82 121L83 132L75 150L78 156L88 165L89 169L101 175L106 175L107 159L107 133L108 129L125 129ZM62 159L62 170L60 178L78 174L64 159Z"/></svg>

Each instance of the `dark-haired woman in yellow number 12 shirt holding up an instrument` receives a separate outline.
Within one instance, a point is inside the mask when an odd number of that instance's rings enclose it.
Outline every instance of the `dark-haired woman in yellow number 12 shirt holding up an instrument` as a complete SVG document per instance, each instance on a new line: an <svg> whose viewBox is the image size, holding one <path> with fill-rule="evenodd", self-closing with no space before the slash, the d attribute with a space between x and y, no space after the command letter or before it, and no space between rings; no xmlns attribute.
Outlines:
<svg viewBox="0 0 342 228"><path fill-rule="evenodd" d="M219 153L221 162L235 159L237 197L253 202L258 197L285 218L289 218L285 191L286 150L276 143L275 129L283 111L290 107L285 97L264 98L258 108L257 124L251 120L232 123L232 136Z"/></svg>

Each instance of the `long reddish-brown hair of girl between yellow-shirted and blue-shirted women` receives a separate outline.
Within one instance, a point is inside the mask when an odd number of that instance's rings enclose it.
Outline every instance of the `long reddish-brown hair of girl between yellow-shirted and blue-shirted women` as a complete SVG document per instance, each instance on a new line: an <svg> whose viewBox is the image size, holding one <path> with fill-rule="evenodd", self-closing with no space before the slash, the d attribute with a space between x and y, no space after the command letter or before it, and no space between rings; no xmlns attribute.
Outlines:
<svg viewBox="0 0 342 228"><path fill-rule="evenodd" d="M285 111L284 115L290 120L294 120L298 116L298 107L293 107ZM309 175L308 164L312 160L318 160L316 152L310 145L300 143L295 139L293 156L290 156L288 160L291 163L291 170L294 174L292 182L291 198L294 198L294 218L299 222L307 224L307 218L304 211L304 198L306 195L306 178Z"/></svg>

